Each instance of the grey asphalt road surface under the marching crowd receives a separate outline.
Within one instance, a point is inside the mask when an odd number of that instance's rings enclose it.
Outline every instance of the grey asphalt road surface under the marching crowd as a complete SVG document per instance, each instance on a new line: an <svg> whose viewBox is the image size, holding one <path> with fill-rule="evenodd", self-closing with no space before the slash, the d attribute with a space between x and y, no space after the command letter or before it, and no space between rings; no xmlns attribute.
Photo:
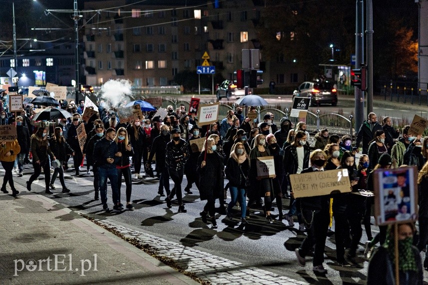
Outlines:
<svg viewBox="0 0 428 285"><path fill-rule="evenodd" d="M85 168L86 169L86 168ZM83 171L82 171L83 172ZM82 173L81 172L81 173ZM25 175L14 177L16 183L25 185L32 173L32 169L26 165ZM367 261L363 262L363 268L342 268L335 265L334 235L327 238L325 252L325 265L329 273L326 277L319 277L312 273L311 267L304 270L296 263L296 257L292 251L304 238L295 227L289 227L283 222L269 223L256 210L255 216L248 221L249 224L242 227L238 219L230 221L225 215L217 215L218 229L211 229L210 224L204 224L199 216L204 202L199 200L198 190L192 188L193 195L185 195L187 213L178 213L178 205L173 202L169 209L164 202L164 197L157 195L157 180L145 179L133 182L132 201L135 210L122 212L104 212L100 201L94 201L93 176L82 175L76 177L66 173L66 184L72 190L69 194L61 193L59 181L56 182L57 193L50 195L53 199L75 211L89 214L95 218L106 219L114 223L140 230L149 234L163 237L167 240L179 242L183 245L195 247L217 256L226 257L248 266L256 266L268 271L284 275L297 280L306 280L313 284L363 284L367 270ZM33 184L33 191L44 194L44 180ZM171 185L173 184L172 181ZM183 187L187 181L184 179ZM60 193L58 193L60 192ZM30 194L27 191L20 195ZM108 190L109 206L112 209L111 190ZM122 185L122 201L125 199L125 185ZM229 199L230 200L230 196ZM287 199L283 199L288 204ZM124 203L125 204L125 203ZM218 207L218 202L216 204ZM285 208L285 206L284 206ZM286 210L284 210L286 212ZM277 210L273 214L277 214ZM334 227L332 228L334 230ZM377 227L372 226L373 234ZM363 233L361 246L366 240ZM287 244L287 249L284 247ZM361 261L364 261L361 258ZM311 264L311 260L308 261Z"/></svg>

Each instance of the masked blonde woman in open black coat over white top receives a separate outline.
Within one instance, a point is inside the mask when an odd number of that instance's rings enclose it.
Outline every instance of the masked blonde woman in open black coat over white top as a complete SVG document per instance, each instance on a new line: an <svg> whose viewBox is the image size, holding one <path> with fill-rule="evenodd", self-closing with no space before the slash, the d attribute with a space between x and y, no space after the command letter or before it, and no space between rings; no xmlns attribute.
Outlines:
<svg viewBox="0 0 428 285"><path fill-rule="evenodd" d="M294 141L291 143L291 145L284 148L284 156L282 158L287 185L289 181L288 176L290 174L299 174L303 171L303 169L309 167L309 147L306 144L306 133L303 131L296 131L294 133ZM293 189L290 187L291 193L292 190ZM294 226L293 216L296 214L299 222L299 230L304 231L305 225L301 218L300 209L297 208L296 200L294 199L293 195L291 195L290 210L284 216L288 221L289 226Z"/></svg>

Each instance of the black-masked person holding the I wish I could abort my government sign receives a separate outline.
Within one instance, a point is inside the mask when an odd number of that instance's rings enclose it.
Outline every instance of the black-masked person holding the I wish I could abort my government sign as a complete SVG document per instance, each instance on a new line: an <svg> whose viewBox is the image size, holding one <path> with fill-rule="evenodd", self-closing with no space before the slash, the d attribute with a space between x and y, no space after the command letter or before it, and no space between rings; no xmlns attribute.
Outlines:
<svg viewBox="0 0 428 285"><path fill-rule="evenodd" d="M301 173L324 171L327 161L325 152L320 149L314 150L309 159L312 166L304 169ZM315 245L312 270L314 273L327 274L327 269L322 263L324 262L325 239L330 222L330 197L328 195L302 197L297 201L307 230L307 237L300 247L295 249L297 262L304 267L306 264L305 256Z"/></svg>

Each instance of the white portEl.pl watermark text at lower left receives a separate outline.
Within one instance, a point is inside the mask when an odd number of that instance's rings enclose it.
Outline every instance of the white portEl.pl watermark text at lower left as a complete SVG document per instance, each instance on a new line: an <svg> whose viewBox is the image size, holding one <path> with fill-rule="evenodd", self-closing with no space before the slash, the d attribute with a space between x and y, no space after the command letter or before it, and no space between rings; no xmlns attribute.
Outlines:
<svg viewBox="0 0 428 285"><path fill-rule="evenodd" d="M14 276L19 276L18 272L21 272L24 269L27 271L78 271L80 272L80 276L85 276L85 272L92 270L97 270L97 254L94 254L94 260L91 259L81 259L80 266L73 268L72 267L72 254L53 254L53 258L48 256L46 259L29 259L24 261L23 259L15 259L15 274ZM65 265L65 261L67 260L66 256L68 256L68 267ZM52 262L52 263L51 263Z"/></svg>

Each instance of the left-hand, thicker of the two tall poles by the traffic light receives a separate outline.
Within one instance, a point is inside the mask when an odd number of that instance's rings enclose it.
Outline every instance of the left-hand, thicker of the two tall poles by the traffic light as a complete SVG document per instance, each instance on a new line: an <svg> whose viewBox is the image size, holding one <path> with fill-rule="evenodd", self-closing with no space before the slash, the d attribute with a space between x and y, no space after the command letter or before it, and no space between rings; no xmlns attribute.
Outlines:
<svg viewBox="0 0 428 285"><path fill-rule="evenodd" d="M363 0L356 0L355 14L355 68L361 67L361 61L364 59L364 33L363 33ZM364 120L364 97L362 91L358 88L354 90L355 94L355 131L358 132Z"/></svg>

